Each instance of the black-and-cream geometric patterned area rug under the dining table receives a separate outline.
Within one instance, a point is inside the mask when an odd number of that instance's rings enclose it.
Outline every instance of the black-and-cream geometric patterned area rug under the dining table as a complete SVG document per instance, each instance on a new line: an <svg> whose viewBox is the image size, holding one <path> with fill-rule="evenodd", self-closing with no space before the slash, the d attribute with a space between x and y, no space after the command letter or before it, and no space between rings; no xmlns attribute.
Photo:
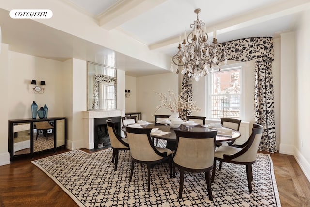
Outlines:
<svg viewBox="0 0 310 207"><path fill-rule="evenodd" d="M132 182L130 152L121 151L114 171L112 149L88 154L74 150L32 161L81 207L280 207L273 163L269 155L257 154L253 164L253 192L248 192L245 166L223 163L208 198L204 173L185 173L182 199L178 198L179 172L170 178L168 163L151 170L147 191L147 168L136 163ZM218 169L218 163L217 163Z"/></svg>

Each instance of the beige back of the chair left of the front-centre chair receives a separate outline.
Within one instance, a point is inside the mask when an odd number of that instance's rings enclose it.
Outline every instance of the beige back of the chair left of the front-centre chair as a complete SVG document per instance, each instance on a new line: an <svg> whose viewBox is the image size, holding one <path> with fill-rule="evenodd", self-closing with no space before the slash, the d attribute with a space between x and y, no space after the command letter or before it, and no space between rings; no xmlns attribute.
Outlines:
<svg viewBox="0 0 310 207"><path fill-rule="evenodd" d="M140 161L156 161L162 159L151 140L151 128L126 127L131 157Z"/></svg>

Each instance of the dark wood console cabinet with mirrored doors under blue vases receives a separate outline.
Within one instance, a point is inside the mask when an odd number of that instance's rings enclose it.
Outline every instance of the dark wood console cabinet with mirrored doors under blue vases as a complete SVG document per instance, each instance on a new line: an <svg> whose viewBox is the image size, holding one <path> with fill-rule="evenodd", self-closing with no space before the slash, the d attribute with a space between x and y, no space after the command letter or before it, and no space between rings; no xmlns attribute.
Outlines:
<svg viewBox="0 0 310 207"><path fill-rule="evenodd" d="M9 120L10 160L65 146L65 117Z"/></svg>

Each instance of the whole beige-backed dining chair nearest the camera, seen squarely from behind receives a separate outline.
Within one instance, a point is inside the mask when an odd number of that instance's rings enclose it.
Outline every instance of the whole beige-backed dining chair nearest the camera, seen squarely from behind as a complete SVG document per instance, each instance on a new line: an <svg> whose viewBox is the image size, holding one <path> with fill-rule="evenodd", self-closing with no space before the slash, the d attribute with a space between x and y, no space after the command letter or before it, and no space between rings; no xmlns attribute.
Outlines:
<svg viewBox="0 0 310 207"><path fill-rule="evenodd" d="M176 149L173 157L173 176L175 166L180 170L179 198L182 198L184 171L204 172L209 199L212 201L211 174L214 164L215 140L217 131L185 132L175 130Z"/></svg>

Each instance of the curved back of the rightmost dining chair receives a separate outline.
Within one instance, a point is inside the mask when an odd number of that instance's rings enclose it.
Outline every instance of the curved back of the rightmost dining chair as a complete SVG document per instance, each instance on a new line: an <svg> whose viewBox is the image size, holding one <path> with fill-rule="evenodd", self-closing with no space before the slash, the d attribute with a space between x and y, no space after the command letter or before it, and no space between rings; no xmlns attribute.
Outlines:
<svg viewBox="0 0 310 207"><path fill-rule="evenodd" d="M258 146L261 142L263 134L263 126L258 124L253 124L253 130L251 136L246 141L246 145L242 148L242 150L231 157L232 161L243 162L243 163L251 163L256 160L256 153L258 150Z"/></svg>

